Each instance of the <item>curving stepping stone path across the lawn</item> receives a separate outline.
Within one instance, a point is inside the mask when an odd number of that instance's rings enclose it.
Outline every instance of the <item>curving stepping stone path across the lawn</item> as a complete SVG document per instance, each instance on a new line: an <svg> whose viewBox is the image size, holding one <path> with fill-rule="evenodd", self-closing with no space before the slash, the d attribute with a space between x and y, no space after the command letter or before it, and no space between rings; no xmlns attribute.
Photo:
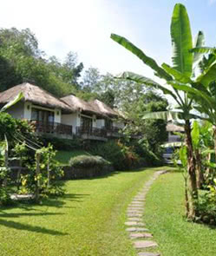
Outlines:
<svg viewBox="0 0 216 256"><path fill-rule="evenodd" d="M147 252L148 248L154 248L158 245L154 240L152 240L153 234L145 227L142 215L145 209L145 197L148 190L159 175L165 174L166 172L167 171L155 172L152 178L145 183L141 191L128 205L128 220L125 222L125 226L127 226L126 231L128 231L130 239L133 240L134 248L137 249L137 255L139 256L160 256L160 253Z"/></svg>

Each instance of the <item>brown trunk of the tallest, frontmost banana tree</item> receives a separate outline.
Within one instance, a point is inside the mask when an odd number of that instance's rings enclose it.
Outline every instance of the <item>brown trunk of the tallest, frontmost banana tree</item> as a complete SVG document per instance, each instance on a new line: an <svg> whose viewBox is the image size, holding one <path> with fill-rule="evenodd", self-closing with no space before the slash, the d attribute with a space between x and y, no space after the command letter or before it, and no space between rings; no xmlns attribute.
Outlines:
<svg viewBox="0 0 216 256"><path fill-rule="evenodd" d="M189 120L185 123L186 146L187 146L187 174L189 175L189 213L188 219L195 218L195 200L198 199L198 190L196 182L196 161L193 155L193 143L191 137L191 124Z"/></svg>

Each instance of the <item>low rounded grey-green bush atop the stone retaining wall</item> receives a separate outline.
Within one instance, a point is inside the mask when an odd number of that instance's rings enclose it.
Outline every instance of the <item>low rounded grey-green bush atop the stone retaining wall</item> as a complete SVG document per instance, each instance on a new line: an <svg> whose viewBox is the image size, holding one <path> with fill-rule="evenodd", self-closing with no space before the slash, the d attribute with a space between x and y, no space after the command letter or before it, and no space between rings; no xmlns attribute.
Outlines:
<svg viewBox="0 0 216 256"><path fill-rule="evenodd" d="M108 165L110 162L98 155L79 155L69 160L70 167L103 167Z"/></svg>

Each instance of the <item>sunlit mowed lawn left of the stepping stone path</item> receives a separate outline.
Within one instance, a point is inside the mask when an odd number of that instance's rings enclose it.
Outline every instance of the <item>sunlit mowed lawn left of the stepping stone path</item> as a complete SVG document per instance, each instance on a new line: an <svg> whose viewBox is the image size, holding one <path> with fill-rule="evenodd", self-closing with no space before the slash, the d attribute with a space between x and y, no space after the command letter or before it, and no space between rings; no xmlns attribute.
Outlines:
<svg viewBox="0 0 216 256"><path fill-rule="evenodd" d="M126 210L155 170L67 181L63 198L2 207L0 255L136 255L125 231Z"/></svg>

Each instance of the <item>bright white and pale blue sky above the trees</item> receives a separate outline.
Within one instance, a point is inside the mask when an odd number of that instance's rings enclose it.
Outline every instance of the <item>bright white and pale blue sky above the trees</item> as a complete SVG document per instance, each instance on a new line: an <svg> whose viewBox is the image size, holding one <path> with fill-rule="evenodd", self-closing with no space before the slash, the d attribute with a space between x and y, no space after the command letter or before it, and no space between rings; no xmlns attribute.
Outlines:
<svg viewBox="0 0 216 256"><path fill-rule="evenodd" d="M63 60L74 51L85 69L114 75L133 71L155 78L110 34L127 37L159 64L171 63L169 28L175 3L186 5L193 36L203 30L206 45L214 46L216 0L7 0L1 3L0 27L29 28L47 56Z"/></svg>

